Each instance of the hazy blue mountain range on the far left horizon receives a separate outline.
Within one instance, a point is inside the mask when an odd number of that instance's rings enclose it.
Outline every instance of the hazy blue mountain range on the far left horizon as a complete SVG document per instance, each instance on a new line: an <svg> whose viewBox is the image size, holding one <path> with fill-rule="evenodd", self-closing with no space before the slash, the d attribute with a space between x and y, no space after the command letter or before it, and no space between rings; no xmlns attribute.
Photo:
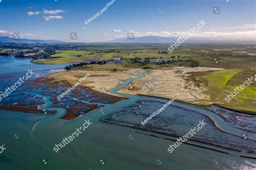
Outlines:
<svg viewBox="0 0 256 170"><path fill-rule="evenodd" d="M12 38L8 36L0 36L0 43L64 43L58 40L41 40L41 39L25 39L25 38Z"/></svg>

